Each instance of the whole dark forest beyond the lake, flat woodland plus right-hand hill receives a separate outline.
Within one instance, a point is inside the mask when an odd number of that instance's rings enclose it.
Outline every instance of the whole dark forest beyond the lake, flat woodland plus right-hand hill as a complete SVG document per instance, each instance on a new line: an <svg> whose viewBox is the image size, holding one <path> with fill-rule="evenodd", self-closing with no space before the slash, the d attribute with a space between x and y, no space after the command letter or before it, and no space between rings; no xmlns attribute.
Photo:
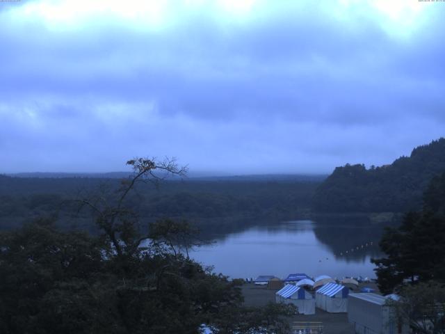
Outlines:
<svg viewBox="0 0 445 334"><path fill-rule="evenodd" d="M131 209L149 223L186 218L202 230L237 228L271 218L308 218L315 213L407 212L421 207L428 182L445 170L445 139L414 148L391 165L346 164L332 175L191 177L140 184ZM0 175L0 226L12 228L40 216L57 216L62 228L93 231L90 215L78 213L76 198L112 196L125 173L104 175Z"/></svg>

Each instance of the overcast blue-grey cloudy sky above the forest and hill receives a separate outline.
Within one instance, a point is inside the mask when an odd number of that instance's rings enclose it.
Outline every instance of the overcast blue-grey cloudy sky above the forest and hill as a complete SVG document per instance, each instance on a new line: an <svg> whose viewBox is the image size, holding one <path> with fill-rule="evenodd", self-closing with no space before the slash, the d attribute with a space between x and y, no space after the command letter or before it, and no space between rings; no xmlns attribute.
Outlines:
<svg viewBox="0 0 445 334"><path fill-rule="evenodd" d="M391 163L445 133L445 2L0 1L0 173Z"/></svg>

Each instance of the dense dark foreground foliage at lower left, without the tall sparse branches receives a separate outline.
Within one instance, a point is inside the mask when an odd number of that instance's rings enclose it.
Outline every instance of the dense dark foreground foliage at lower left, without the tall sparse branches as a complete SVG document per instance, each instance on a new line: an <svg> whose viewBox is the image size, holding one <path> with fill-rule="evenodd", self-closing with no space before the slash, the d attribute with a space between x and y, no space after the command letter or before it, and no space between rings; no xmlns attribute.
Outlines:
<svg viewBox="0 0 445 334"><path fill-rule="evenodd" d="M149 246L109 256L103 239L42 223L1 233L0 245L1 333L198 333L204 323L249 333L264 321L286 328L289 312L243 308L239 283L181 253Z"/></svg>

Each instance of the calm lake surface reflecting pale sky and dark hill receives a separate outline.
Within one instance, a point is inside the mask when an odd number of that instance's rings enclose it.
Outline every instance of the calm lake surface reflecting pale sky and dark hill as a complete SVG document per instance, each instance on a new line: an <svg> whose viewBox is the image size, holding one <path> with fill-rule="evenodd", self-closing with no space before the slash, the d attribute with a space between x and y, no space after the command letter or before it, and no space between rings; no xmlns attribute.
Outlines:
<svg viewBox="0 0 445 334"><path fill-rule="evenodd" d="M375 277L371 257L380 256L381 226L369 222L289 221L223 234L192 257L232 278L307 273Z"/></svg>

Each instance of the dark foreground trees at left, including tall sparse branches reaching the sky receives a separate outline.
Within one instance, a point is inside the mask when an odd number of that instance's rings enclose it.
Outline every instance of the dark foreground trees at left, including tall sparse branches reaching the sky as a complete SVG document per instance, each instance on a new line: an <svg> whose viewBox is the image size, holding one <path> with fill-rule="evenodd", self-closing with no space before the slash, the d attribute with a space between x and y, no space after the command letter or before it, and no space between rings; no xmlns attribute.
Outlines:
<svg viewBox="0 0 445 334"><path fill-rule="evenodd" d="M77 200L92 210L99 236L60 232L44 220L0 234L0 333L200 333L202 324L220 333L284 333L288 310L244 308L237 281L188 257L196 241L186 222L140 229L129 193L184 168L168 159L127 164L134 173L114 196ZM229 324L225 315L234 315Z"/></svg>

